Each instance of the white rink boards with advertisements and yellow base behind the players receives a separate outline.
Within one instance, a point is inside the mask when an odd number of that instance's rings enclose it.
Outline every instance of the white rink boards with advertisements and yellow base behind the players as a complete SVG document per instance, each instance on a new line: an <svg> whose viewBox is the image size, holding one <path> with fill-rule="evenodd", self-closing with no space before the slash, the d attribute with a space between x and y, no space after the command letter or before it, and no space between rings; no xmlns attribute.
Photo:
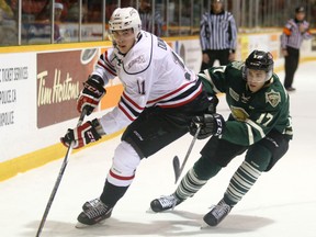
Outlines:
<svg viewBox="0 0 316 237"><path fill-rule="evenodd" d="M240 34L236 59L245 59L253 49L270 50L274 66L280 70L283 58L279 37L280 32ZM199 37L169 40L167 43L190 69L200 71L202 52ZM65 147L59 138L67 128L76 125L79 116L76 100L82 82L93 70L99 55L109 46L101 42L93 47L50 50L42 47L32 52L0 54L0 181L64 156ZM302 55L316 58L314 46L315 41L304 42ZM89 120L115 106L122 91L119 78L111 80L97 113Z"/></svg>

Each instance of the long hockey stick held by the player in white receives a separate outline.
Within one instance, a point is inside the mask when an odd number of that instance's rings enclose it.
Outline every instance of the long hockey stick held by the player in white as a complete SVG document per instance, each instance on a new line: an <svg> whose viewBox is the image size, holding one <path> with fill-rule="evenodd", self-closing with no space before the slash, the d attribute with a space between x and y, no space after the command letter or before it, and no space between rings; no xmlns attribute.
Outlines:
<svg viewBox="0 0 316 237"><path fill-rule="evenodd" d="M83 110L83 111L81 112L80 117L79 117L79 121L78 121L78 123L77 123L77 126L80 126L80 125L82 124L84 116L86 116L86 110ZM41 221L38 230L37 230L37 233L36 233L36 237L40 237L40 235L41 235L41 233L42 233L42 229L43 229L44 224L45 224L45 222L46 222L46 218L47 218L48 212L49 212L49 210L50 210L52 203L53 203L53 201L54 201L54 199L55 199L57 189L58 189L59 183L60 183L60 181L61 181L64 171L65 171L65 169L66 169L66 167L67 167L68 157L69 157L69 154L71 153L71 150L72 150L72 143L70 144L70 146L69 146L68 149L67 149L67 153L66 153L66 156L65 156L65 158L64 158L61 168L60 168L60 170L59 170L57 180L56 180L55 185L54 185L54 189L53 189L53 191L52 191L52 193L50 193L50 196L49 196L49 200L48 200L48 202L47 202L47 205L46 205L44 215L43 215L43 217L42 217L42 221Z"/></svg>

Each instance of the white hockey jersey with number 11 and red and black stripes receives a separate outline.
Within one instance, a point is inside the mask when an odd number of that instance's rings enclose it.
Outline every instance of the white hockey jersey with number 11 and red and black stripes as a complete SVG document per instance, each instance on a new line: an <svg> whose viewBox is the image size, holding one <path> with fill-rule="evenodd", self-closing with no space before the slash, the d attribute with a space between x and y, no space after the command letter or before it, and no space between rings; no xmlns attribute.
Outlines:
<svg viewBox="0 0 316 237"><path fill-rule="evenodd" d="M117 76L124 86L119 105L100 119L106 134L126 127L145 108L181 106L202 91L198 76L170 46L145 31L126 55L116 48L102 54L92 75L105 84Z"/></svg>

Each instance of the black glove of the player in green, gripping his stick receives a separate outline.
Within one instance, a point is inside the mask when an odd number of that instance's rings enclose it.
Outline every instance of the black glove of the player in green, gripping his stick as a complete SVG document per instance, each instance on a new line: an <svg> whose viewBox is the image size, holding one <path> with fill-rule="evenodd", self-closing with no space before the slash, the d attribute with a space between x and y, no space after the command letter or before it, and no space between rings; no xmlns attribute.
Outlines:
<svg viewBox="0 0 316 237"><path fill-rule="evenodd" d="M219 136L224 131L225 120L217 113L194 116L189 127L192 136L196 134L198 126L201 126L198 139L204 139L212 135Z"/></svg>

